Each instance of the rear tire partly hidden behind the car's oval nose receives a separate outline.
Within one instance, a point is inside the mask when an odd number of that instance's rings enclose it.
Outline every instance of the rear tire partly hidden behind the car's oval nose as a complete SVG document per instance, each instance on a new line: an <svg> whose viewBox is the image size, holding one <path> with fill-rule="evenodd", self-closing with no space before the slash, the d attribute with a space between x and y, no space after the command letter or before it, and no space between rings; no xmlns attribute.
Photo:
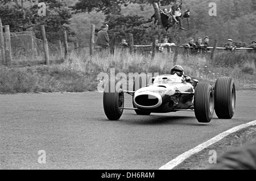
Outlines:
<svg viewBox="0 0 256 181"><path fill-rule="evenodd" d="M133 91L137 91L138 89L141 89L144 86L147 86L148 84L152 83L152 76L148 74L140 74L134 79L133 83ZM133 102L133 107L137 108ZM140 110L134 110L137 115L150 115L151 112L144 112Z"/></svg>

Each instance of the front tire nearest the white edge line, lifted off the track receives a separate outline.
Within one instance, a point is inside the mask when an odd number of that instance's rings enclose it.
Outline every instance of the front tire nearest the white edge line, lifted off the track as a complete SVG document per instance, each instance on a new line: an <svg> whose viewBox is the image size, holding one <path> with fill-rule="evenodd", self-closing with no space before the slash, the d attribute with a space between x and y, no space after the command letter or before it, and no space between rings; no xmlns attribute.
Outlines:
<svg viewBox="0 0 256 181"><path fill-rule="evenodd" d="M208 82L199 82L196 86L194 110L199 123L210 123L214 113L214 91Z"/></svg>

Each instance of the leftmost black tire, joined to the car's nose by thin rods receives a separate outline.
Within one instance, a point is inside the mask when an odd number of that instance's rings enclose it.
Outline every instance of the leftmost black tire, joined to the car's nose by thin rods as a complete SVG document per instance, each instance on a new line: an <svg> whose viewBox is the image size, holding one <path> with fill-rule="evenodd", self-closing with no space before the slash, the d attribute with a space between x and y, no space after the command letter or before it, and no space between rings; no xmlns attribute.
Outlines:
<svg viewBox="0 0 256 181"><path fill-rule="evenodd" d="M118 81L109 81L106 84L103 94L103 106L106 117L109 120L118 120L123 113L125 104L122 92L122 83Z"/></svg>

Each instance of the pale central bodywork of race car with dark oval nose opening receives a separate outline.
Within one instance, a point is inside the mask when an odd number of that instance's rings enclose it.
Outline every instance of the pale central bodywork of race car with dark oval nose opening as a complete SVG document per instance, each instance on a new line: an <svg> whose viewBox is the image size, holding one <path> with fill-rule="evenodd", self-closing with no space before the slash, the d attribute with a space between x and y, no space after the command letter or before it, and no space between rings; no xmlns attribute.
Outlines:
<svg viewBox="0 0 256 181"><path fill-rule="evenodd" d="M151 85L134 92L133 102L141 111L167 113L193 110L194 86L177 75L159 75Z"/></svg>

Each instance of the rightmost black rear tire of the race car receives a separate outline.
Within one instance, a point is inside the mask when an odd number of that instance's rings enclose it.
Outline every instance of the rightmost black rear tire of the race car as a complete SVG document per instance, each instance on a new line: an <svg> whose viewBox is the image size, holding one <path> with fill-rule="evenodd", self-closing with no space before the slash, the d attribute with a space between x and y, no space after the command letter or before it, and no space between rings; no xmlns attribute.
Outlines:
<svg viewBox="0 0 256 181"><path fill-rule="evenodd" d="M236 86L230 77L218 78L214 86L215 113L219 119L232 119L236 110Z"/></svg>

